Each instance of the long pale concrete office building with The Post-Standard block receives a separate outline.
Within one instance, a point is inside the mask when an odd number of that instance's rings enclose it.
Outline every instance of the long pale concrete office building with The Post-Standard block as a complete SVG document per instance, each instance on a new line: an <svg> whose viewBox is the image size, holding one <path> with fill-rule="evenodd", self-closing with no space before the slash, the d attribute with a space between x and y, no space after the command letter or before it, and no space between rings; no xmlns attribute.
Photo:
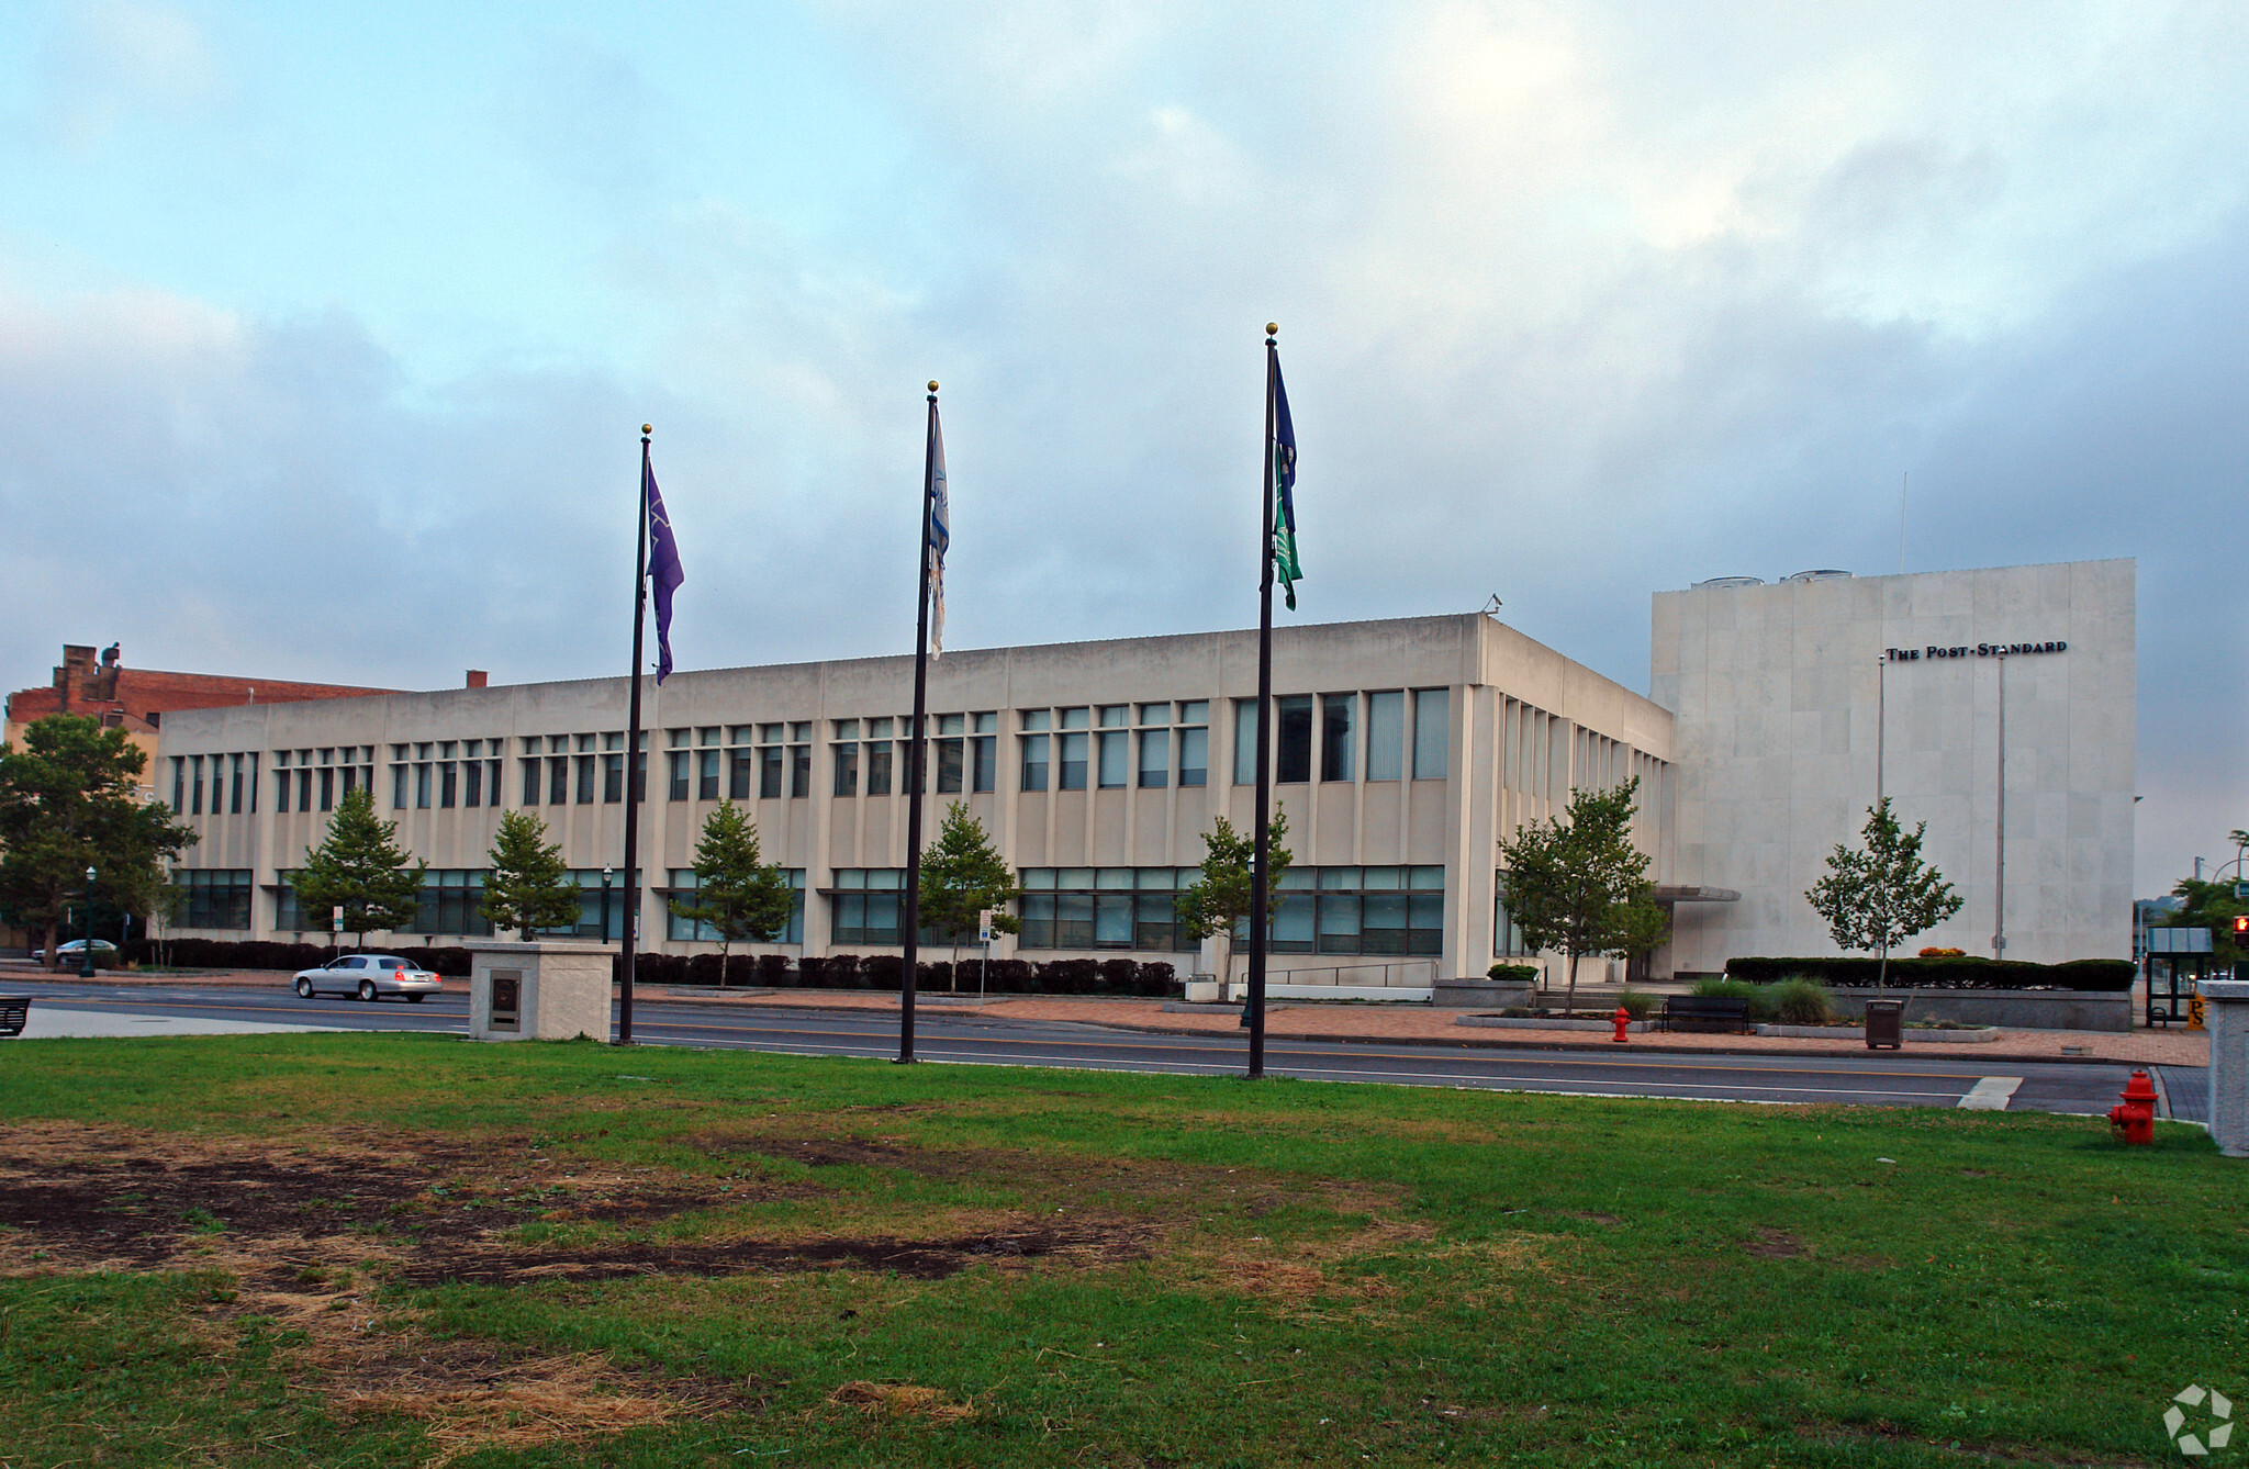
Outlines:
<svg viewBox="0 0 2249 1469"><path fill-rule="evenodd" d="M1878 767L1968 898L1932 940L1990 952L1993 646L2017 648L2006 954L2130 952L2130 562L1743 583L1658 594L1653 697L1480 614L1280 628L1273 767L1295 868L1275 967L1392 988L1482 974L1520 949L1498 839L1572 787L1631 776L1635 839L1678 920L1653 972L1826 954L1801 893L1853 837ZM1023 934L994 956L1210 963L1172 893L1212 817L1248 828L1255 659L1253 632L1208 632L931 666L931 817L965 801L1023 873ZM735 801L803 891L769 949L897 952L911 679L911 659L888 657L650 684L643 945L715 947L663 900L693 886L704 817ZM180 931L319 940L290 873L324 812L369 785L430 864L412 940L488 931L475 907L511 808L562 841L587 889L580 934L618 936L623 875L605 891L603 871L623 862L625 693L587 679L169 715L157 774L202 835Z"/></svg>

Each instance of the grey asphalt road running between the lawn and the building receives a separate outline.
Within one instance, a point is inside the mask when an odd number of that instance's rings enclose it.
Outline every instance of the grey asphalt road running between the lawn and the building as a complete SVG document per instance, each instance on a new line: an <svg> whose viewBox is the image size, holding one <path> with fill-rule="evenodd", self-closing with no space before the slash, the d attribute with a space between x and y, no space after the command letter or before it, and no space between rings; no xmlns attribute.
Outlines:
<svg viewBox="0 0 2249 1469"><path fill-rule="evenodd" d="M7 985L40 1008L180 1015L263 1024L342 1026L353 1030L432 1030L466 1035L468 997L436 994L425 1003L297 999L286 990L196 985ZM864 1010L697 1006L639 997L634 1039L654 1046L780 1051L792 1055L897 1055L897 1017ZM1244 1037L1138 1035L1102 1026L1001 1019L922 1006L915 1055L974 1066L1068 1066L1091 1071L1158 1071L1239 1075ZM1952 1060L1925 1053L1867 1057L1774 1055L1637 1055L1536 1051L1511 1046L1408 1046L1397 1042L1268 1042L1266 1071L1318 1082L1388 1082L1401 1087L1475 1087L1574 1096L1653 1096L1732 1102L1840 1102L1867 1107L1959 1107L2062 1111L2098 1116L2123 1091L2130 1066L2114 1062L2053 1064L2006 1057ZM2166 1066L2173 1091L2200 1084L2202 1071ZM2182 1111L2186 1111L2182 1107Z"/></svg>

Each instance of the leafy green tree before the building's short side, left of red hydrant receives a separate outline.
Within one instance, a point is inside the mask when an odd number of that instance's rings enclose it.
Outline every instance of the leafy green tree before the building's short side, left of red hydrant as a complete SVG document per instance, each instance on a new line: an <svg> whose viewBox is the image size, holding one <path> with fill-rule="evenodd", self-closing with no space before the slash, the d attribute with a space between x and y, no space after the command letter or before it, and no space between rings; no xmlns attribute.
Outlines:
<svg viewBox="0 0 2249 1469"><path fill-rule="evenodd" d="M1570 1008L1579 958L1635 958L1671 936L1649 882L1649 855L1633 846L1637 794L1640 776L1610 792L1572 790L1561 817L1500 841L1507 913L1532 949L1570 956Z"/></svg>

